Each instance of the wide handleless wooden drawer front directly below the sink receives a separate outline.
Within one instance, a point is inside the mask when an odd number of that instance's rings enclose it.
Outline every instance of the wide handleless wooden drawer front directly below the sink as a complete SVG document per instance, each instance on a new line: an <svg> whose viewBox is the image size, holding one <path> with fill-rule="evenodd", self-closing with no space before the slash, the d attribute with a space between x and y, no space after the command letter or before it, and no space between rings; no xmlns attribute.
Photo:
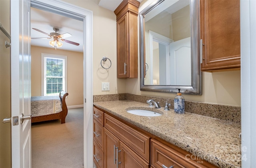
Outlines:
<svg viewBox="0 0 256 168"><path fill-rule="evenodd" d="M150 163L150 136L104 113L104 127Z"/></svg>

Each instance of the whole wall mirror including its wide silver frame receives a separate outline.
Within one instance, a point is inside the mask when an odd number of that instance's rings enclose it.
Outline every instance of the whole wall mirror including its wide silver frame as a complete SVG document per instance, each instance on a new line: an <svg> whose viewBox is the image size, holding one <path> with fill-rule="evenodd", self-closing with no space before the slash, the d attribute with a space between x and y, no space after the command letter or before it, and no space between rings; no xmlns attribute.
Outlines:
<svg viewBox="0 0 256 168"><path fill-rule="evenodd" d="M140 90L202 94L198 3L156 0L140 12Z"/></svg>

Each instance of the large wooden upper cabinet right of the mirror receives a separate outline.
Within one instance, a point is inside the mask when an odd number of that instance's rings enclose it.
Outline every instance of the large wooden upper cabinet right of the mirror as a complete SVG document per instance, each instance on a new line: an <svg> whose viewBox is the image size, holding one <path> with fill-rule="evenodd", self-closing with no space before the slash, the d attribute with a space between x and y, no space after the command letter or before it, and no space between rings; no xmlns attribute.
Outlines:
<svg viewBox="0 0 256 168"><path fill-rule="evenodd" d="M240 68L240 0L200 0L202 71Z"/></svg>

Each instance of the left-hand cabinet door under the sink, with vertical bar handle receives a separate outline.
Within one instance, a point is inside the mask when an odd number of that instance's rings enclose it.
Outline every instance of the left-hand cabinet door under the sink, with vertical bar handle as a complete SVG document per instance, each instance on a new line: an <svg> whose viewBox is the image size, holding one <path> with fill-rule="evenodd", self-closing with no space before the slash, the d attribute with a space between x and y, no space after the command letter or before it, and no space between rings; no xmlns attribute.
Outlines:
<svg viewBox="0 0 256 168"><path fill-rule="evenodd" d="M119 139L104 128L104 168L118 168L119 150Z"/></svg>

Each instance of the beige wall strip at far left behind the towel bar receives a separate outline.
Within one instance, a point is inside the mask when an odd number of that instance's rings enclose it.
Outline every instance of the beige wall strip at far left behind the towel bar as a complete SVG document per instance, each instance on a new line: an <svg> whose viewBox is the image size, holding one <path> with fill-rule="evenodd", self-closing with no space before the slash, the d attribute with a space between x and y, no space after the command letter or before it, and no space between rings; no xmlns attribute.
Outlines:
<svg viewBox="0 0 256 168"><path fill-rule="evenodd" d="M10 0L0 0L0 22L10 34ZM0 120L11 117L9 38L0 30ZM11 123L0 122L0 168L11 167Z"/></svg>

